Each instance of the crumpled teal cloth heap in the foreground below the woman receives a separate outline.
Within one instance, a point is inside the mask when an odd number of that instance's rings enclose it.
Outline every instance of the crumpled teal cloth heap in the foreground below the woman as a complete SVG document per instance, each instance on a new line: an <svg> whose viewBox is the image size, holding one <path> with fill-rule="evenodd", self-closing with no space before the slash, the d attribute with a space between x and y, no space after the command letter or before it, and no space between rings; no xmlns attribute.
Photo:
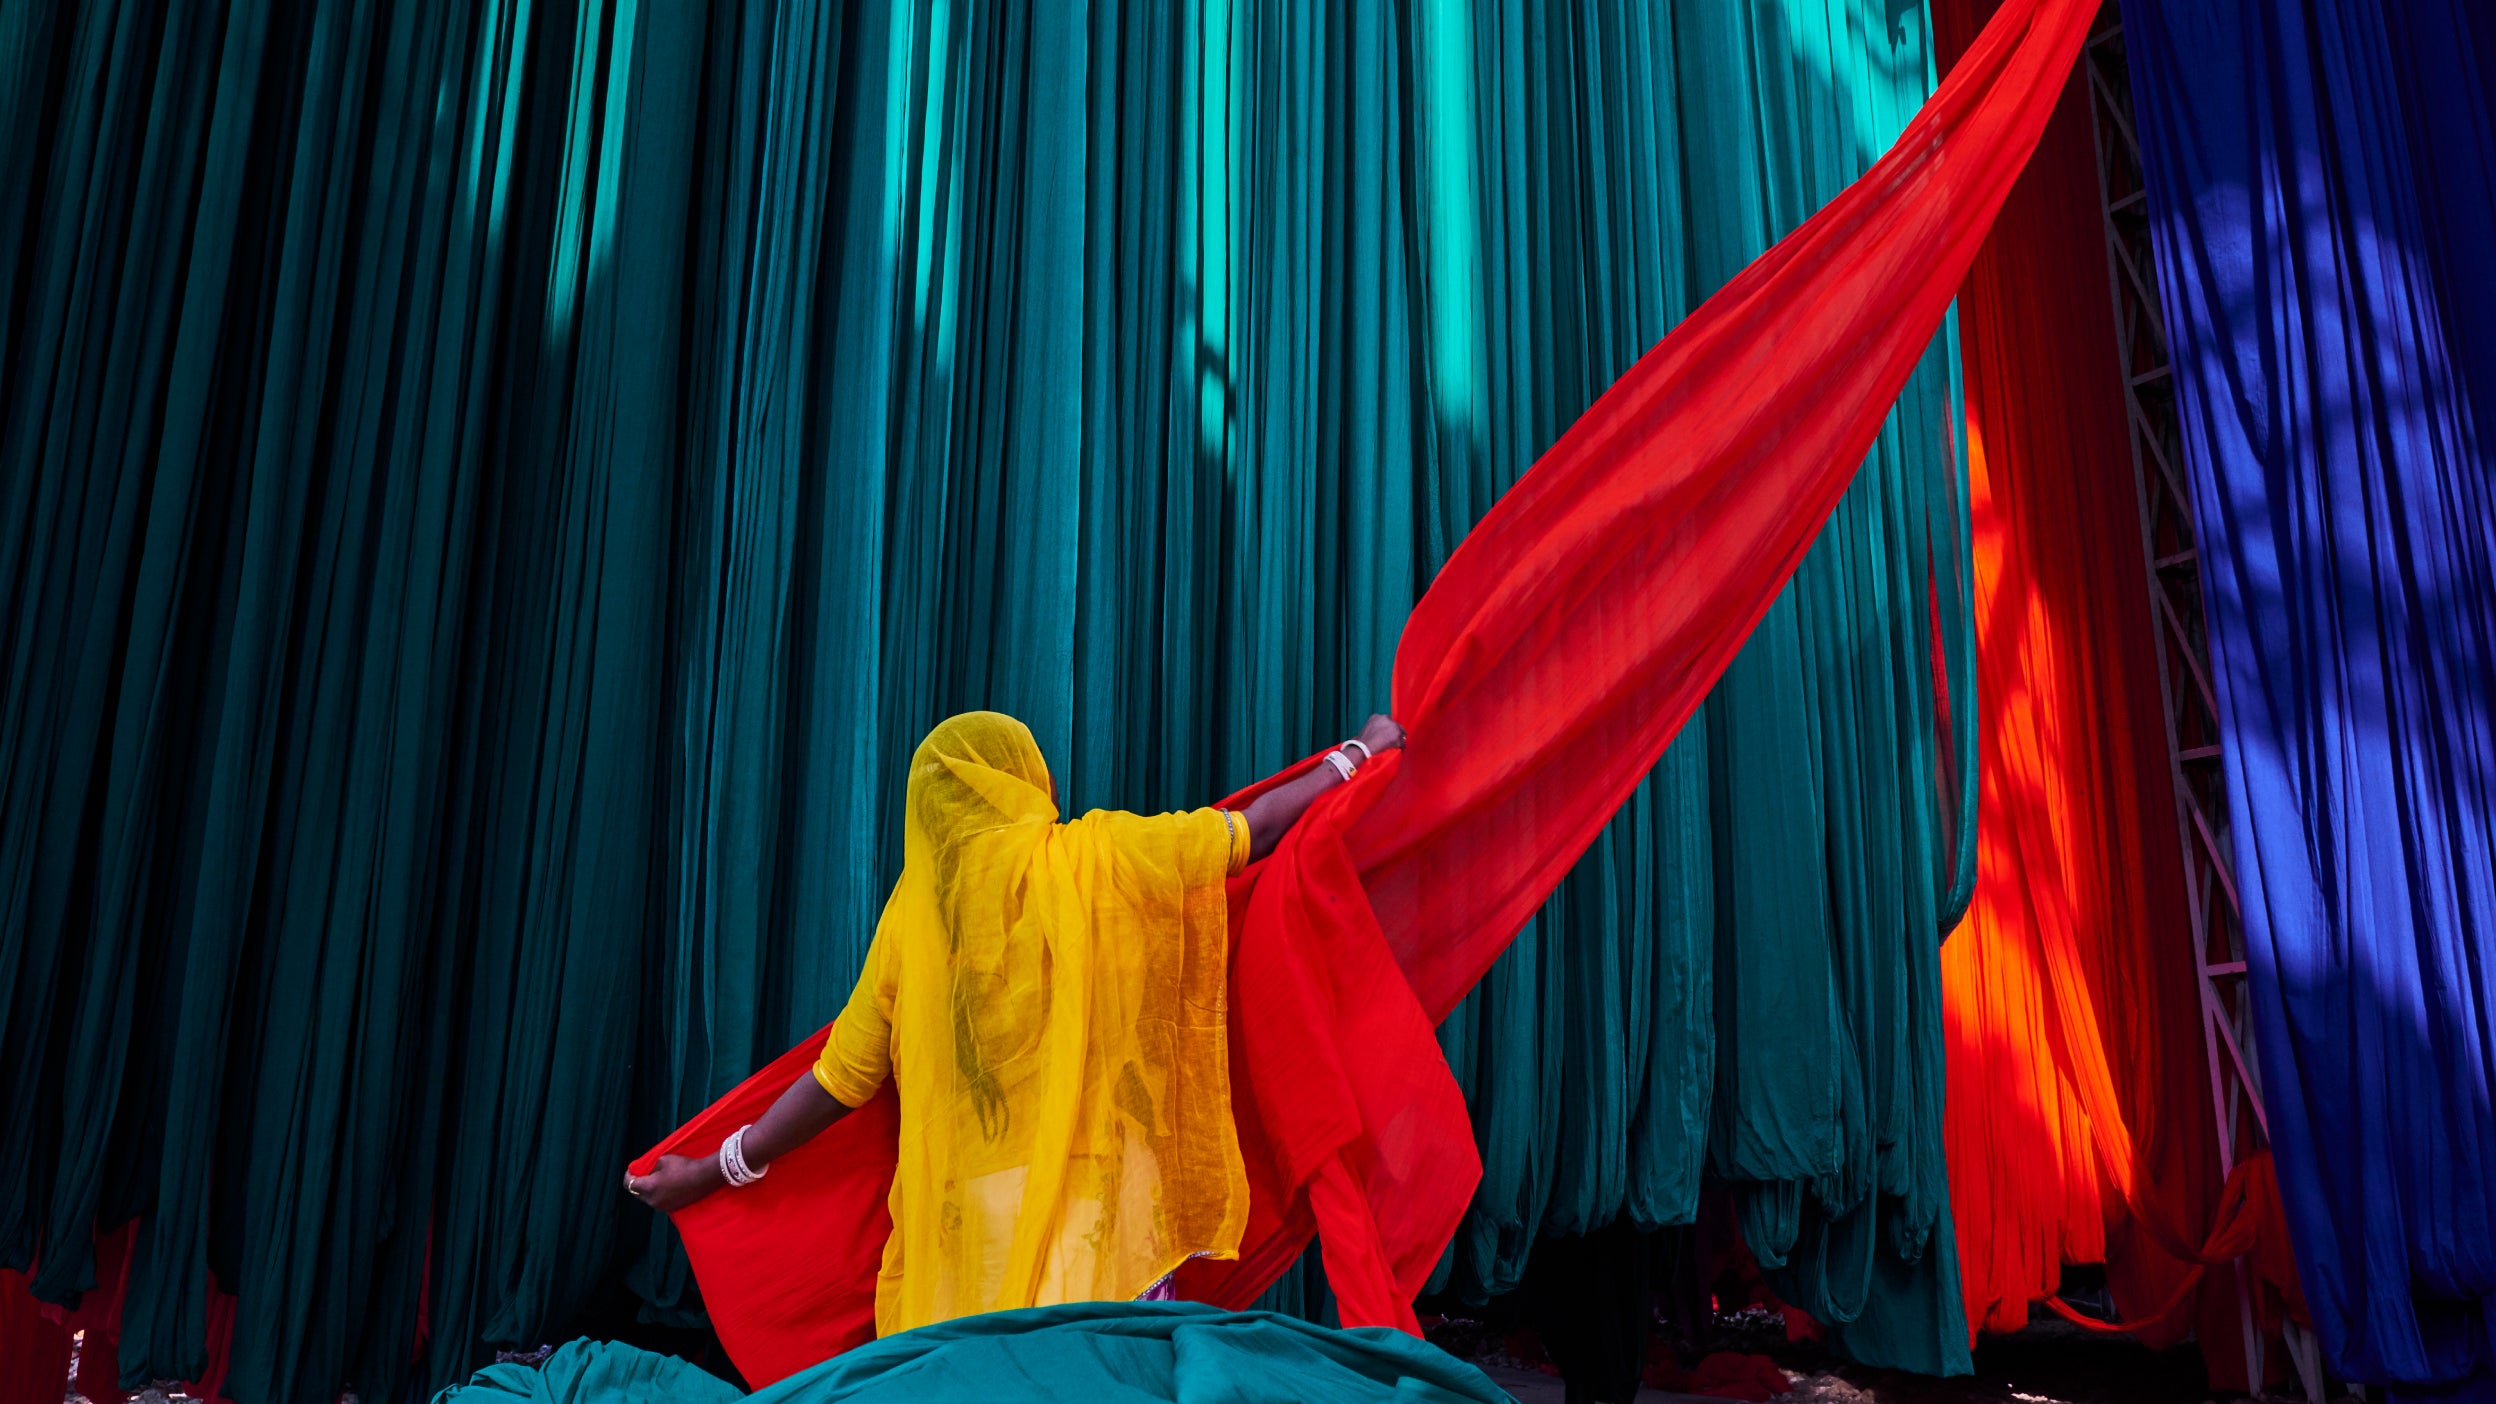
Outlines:
<svg viewBox="0 0 2496 1404"><path fill-rule="evenodd" d="M572 1342L544 1369L499 1364L442 1404L721 1404L691 1364ZM1340 1332L1273 1312L1078 1302L919 1327L751 1394L769 1404L1505 1404L1448 1352L1390 1329Z"/></svg>

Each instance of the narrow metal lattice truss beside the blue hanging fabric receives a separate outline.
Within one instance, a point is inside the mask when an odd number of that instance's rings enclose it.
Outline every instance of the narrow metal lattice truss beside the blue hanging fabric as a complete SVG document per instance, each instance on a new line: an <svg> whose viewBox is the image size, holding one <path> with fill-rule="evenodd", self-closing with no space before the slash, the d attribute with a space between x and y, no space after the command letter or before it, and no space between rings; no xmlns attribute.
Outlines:
<svg viewBox="0 0 2496 1404"><path fill-rule="evenodd" d="M2132 485L2142 505L2142 560L2167 709L2167 757L2174 767L2177 837L2191 917L2194 972L2201 984L2201 1052L2209 1104L2219 1129L2219 1172L2269 1142L2261 1077L2254 1069L2244 982L2244 922L2229 859L2226 772L2219 754L2219 695L2209 667L2209 625L2201 610L2201 550L2194 535L2191 487L2184 477L2174 367L2159 315L2159 267L2149 242L2149 190L2142 142L2132 122L2132 75L2124 25L2107 0L2082 50L2089 120L2097 130L2097 187L2107 220L2107 272L2114 285L2114 337L2132 425ZM2244 1259L2234 1264L2246 1379L2261 1389L2261 1327ZM2289 1354L2309 1399L2321 1399L2314 1339L2291 1327Z"/></svg>

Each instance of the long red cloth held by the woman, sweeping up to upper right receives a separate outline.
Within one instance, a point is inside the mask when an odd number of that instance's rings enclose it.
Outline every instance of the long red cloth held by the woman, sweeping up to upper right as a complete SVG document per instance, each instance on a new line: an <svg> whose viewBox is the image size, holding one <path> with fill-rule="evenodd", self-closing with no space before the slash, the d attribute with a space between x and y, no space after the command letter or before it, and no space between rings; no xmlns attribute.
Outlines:
<svg viewBox="0 0 2496 1404"><path fill-rule="evenodd" d="M1785 587L2037 145L2097 0L2012 0L1862 180L1622 375L1483 517L1395 655L1403 754L1233 887L1243 1304L1323 1229L1345 1324L1403 1324L1480 1164L1430 1029L1490 967ZM651 1149L709 1154L806 1047ZM761 1384L871 1332L894 1107L681 1212Z"/></svg>

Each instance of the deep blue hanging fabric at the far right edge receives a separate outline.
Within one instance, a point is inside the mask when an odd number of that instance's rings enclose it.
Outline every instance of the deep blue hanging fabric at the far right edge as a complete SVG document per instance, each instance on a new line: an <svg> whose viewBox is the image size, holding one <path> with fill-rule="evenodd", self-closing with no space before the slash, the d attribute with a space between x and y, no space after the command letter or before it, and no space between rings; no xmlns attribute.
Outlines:
<svg viewBox="0 0 2496 1404"><path fill-rule="evenodd" d="M2344 1379L2496 1399L2496 17L2124 42L2304 1292Z"/></svg>

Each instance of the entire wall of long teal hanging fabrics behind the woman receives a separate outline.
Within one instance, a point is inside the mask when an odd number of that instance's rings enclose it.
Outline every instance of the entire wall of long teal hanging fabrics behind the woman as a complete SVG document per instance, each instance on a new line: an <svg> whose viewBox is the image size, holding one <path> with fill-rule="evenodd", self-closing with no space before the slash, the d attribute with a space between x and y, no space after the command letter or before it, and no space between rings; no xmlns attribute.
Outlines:
<svg viewBox="0 0 2496 1404"><path fill-rule="evenodd" d="M0 7L0 1267L122 1379L422 1397L846 994L938 717L1171 809L1385 697L1470 522L1929 90L1919 5ZM1450 1019L1445 1282L1752 1244L1964 1362L1949 347ZM626 1289L631 1297L626 1297ZM1323 1314L1323 1277L1270 1304ZM419 1332L422 1322L422 1332Z"/></svg>

